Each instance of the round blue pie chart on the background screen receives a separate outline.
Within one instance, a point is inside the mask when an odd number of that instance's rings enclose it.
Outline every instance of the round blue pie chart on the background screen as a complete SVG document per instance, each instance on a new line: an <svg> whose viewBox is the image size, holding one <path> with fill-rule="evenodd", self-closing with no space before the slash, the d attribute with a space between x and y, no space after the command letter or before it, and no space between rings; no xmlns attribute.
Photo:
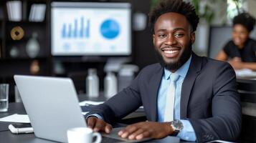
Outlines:
<svg viewBox="0 0 256 143"><path fill-rule="evenodd" d="M115 37L117 37L120 33L120 26L117 21L113 19L107 19L101 24L100 33L106 39L115 39Z"/></svg>

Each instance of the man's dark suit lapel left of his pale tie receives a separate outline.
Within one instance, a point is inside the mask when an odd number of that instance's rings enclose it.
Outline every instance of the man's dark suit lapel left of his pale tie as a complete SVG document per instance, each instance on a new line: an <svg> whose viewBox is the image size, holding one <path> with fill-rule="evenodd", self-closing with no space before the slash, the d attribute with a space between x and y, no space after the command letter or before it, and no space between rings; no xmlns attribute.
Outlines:
<svg viewBox="0 0 256 143"><path fill-rule="evenodd" d="M151 120L153 122L157 121L157 97L158 97L158 89L160 87L161 84L161 79L163 76L163 68L161 67L161 69L157 70L156 73L154 74L154 76L151 78L151 82L149 83L149 87L150 89L148 90L149 92L149 97L150 98L150 105L151 106Z"/></svg>

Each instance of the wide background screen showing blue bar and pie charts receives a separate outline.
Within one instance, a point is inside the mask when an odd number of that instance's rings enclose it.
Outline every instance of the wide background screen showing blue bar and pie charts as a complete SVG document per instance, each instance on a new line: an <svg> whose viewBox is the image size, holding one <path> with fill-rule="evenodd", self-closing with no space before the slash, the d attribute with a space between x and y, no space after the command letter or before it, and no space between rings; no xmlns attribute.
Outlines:
<svg viewBox="0 0 256 143"><path fill-rule="evenodd" d="M52 2L53 56L131 54L131 4Z"/></svg>

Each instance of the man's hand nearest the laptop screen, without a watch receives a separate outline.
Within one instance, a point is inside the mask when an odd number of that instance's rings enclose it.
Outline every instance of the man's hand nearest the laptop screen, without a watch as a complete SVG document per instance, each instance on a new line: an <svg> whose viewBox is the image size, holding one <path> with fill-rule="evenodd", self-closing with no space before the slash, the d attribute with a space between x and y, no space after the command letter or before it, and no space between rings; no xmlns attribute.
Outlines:
<svg viewBox="0 0 256 143"><path fill-rule="evenodd" d="M106 122L104 122L102 119L98 119L97 117L88 117L86 119L87 126L93 129L94 132L105 132L110 133L112 126Z"/></svg>

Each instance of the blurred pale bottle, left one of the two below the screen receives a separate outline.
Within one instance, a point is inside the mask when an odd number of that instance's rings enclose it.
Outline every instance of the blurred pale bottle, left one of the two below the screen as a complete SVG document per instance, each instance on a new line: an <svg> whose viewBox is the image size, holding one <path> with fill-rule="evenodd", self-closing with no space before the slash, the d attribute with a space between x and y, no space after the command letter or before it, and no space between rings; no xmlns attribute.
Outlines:
<svg viewBox="0 0 256 143"><path fill-rule="evenodd" d="M88 97L99 97L99 78L97 76L97 69L88 69L86 92Z"/></svg>

